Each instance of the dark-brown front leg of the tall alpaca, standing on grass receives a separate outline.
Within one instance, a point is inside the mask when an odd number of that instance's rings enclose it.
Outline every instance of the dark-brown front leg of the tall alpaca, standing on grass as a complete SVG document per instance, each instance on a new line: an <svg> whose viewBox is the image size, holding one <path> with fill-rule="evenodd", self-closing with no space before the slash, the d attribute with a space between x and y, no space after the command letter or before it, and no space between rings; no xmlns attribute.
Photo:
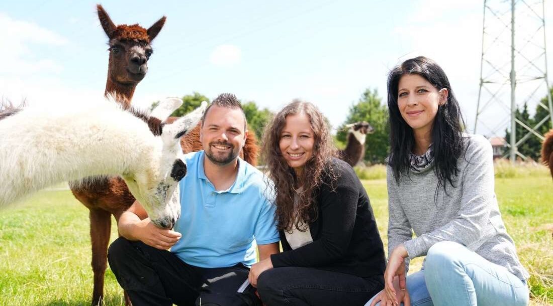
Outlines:
<svg viewBox="0 0 553 306"><path fill-rule="evenodd" d="M107 268L107 245L111 232L111 213L105 210L91 209L88 216L90 217L92 272L94 273L92 305L103 305L103 285Z"/></svg>

